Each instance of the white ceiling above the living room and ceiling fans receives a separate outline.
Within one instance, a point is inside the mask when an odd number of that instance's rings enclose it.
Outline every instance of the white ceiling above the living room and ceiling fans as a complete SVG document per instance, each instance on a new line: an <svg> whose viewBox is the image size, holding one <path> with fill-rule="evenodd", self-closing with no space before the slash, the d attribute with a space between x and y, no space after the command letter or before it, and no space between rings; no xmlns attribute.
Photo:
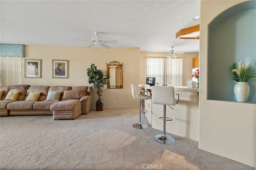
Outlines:
<svg viewBox="0 0 256 170"><path fill-rule="evenodd" d="M199 40L176 40L183 28L200 24L200 0L0 1L0 43L84 46L94 32L111 47L141 51L199 52Z"/></svg>

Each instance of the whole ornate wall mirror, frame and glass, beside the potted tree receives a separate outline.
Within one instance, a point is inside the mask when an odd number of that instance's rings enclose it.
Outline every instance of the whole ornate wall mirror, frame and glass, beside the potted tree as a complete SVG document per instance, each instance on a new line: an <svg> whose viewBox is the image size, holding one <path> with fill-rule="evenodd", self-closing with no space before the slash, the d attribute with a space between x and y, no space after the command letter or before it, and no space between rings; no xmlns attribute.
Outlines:
<svg viewBox="0 0 256 170"><path fill-rule="evenodd" d="M107 74L110 76L107 82L108 89L123 88L123 63L117 61L107 63Z"/></svg>

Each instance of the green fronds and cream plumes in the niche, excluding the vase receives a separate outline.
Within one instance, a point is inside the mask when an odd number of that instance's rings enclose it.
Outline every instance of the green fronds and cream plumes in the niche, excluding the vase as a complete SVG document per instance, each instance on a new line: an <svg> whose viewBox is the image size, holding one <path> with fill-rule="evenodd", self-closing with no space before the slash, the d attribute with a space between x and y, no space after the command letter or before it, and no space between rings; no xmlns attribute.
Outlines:
<svg viewBox="0 0 256 170"><path fill-rule="evenodd" d="M250 66L251 59L246 58L245 63L238 60L238 62L234 62L229 66L228 70L232 74L232 79L237 82L247 82L251 81L253 77L255 77L254 66Z"/></svg>

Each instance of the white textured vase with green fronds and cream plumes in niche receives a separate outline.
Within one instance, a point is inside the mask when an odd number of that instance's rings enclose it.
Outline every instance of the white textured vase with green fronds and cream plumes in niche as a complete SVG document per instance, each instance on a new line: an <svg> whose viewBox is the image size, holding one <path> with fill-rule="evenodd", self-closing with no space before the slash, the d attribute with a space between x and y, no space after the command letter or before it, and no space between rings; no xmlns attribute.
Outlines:
<svg viewBox="0 0 256 170"><path fill-rule="evenodd" d="M250 65L251 58L246 58L245 63L238 60L229 66L229 71L231 73L231 79L237 81L238 83L234 86L234 93L236 101L246 102L250 93L250 86L247 84L251 81L254 76L254 65Z"/></svg>

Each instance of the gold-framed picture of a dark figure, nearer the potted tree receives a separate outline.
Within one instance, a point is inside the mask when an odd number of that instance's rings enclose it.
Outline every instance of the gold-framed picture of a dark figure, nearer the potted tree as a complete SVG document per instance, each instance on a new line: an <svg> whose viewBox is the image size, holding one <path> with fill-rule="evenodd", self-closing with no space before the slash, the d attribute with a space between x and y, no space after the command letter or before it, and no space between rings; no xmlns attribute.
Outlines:
<svg viewBox="0 0 256 170"><path fill-rule="evenodd" d="M52 78L68 78L68 60L52 60Z"/></svg>

